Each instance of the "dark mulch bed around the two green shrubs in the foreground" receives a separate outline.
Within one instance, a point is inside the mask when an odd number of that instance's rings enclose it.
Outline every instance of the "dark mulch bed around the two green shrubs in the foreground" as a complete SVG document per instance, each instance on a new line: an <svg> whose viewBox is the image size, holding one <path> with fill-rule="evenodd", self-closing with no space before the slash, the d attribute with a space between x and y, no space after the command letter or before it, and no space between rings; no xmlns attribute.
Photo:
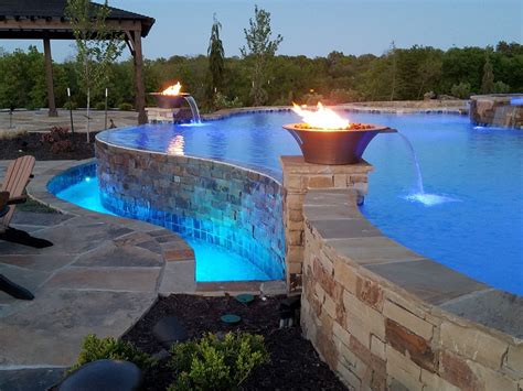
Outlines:
<svg viewBox="0 0 523 391"><path fill-rule="evenodd" d="M242 304L230 296L162 297L122 339L149 354L160 351L162 346L152 336L152 327L166 316L177 316L191 338L199 338L206 332L259 334L265 337L270 363L257 368L242 384L242 390L345 390L312 345L301 336L299 326L279 328L278 307L284 298L262 301L256 297L250 304ZM222 323L220 316L226 313L242 316L242 322L234 326ZM166 361L161 361L146 373L143 390L166 390L173 380Z"/></svg>

